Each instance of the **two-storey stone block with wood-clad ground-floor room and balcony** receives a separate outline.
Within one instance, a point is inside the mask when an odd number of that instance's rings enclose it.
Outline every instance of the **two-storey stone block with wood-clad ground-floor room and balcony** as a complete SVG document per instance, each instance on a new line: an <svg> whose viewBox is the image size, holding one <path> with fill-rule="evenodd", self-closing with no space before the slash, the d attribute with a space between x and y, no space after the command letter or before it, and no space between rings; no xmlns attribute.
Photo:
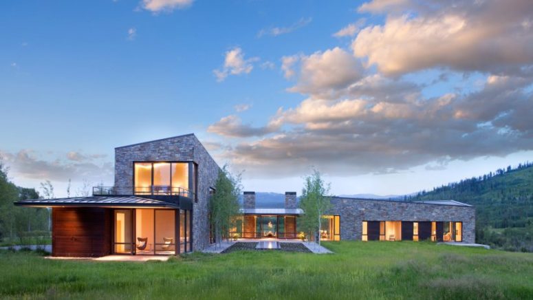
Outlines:
<svg viewBox="0 0 533 300"><path fill-rule="evenodd" d="M52 208L52 255L177 255L210 243L219 166L194 134L115 149L115 185L91 197L24 200Z"/></svg>

